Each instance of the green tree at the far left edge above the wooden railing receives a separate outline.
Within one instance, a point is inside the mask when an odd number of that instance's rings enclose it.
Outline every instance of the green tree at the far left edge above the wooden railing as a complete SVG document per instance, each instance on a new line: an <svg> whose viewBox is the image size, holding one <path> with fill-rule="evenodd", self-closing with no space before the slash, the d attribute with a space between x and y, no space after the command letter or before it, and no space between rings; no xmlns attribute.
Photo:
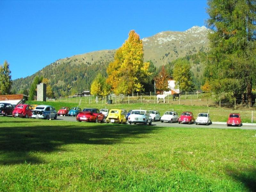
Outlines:
<svg viewBox="0 0 256 192"><path fill-rule="evenodd" d="M9 63L4 61L3 66L0 65L0 94L5 95L11 92L12 76Z"/></svg>

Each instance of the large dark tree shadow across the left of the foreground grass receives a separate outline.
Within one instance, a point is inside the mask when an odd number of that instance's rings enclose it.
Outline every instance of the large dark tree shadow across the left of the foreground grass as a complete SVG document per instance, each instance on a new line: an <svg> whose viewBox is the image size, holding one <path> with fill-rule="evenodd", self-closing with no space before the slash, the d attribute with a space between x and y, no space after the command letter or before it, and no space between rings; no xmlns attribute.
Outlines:
<svg viewBox="0 0 256 192"><path fill-rule="evenodd" d="M43 163L31 152L59 151L66 144L112 145L123 138L144 137L155 126L85 125L0 128L0 164Z"/></svg>

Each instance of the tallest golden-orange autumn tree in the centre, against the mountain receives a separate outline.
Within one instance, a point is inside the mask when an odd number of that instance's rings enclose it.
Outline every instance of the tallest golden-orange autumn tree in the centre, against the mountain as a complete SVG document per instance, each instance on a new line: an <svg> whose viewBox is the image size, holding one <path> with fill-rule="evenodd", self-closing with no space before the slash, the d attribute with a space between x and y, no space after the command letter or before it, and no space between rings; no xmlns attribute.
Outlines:
<svg viewBox="0 0 256 192"><path fill-rule="evenodd" d="M142 40L132 30L122 47L116 51L114 61L107 69L107 82L115 94L144 90L142 83L150 73L149 62L143 63L143 56Z"/></svg>

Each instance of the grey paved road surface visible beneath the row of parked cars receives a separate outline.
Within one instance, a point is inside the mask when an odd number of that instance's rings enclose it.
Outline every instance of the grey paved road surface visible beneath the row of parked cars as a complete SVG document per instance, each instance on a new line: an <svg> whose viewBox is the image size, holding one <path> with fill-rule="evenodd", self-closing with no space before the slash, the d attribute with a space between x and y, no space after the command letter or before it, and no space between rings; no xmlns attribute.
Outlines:
<svg viewBox="0 0 256 192"><path fill-rule="evenodd" d="M58 120L63 121L73 121L76 122L76 117L73 116L58 116ZM86 123L86 122L80 122L80 123ZM133 126L132 124L131 126ZM159 126L159 127L190 127L190 128L219 128L219 129L251 129L256 130L256 126L253 125L243 125L241 127L236 126L229 126L227 127L226 124L211 124L211 125L196 125L196 124L178 124L178 123L161 123L160 121L152 122L153 126Z"/></svg>

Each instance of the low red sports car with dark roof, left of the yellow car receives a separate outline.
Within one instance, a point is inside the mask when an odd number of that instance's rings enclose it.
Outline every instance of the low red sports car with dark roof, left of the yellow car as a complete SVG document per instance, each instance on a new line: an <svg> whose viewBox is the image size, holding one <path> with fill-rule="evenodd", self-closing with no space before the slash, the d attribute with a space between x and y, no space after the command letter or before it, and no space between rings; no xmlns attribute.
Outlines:
<svg viewBox="0 0 256 192"><path fill-rule="evenodd" d="M104 122L105 116L104 114L100 113L99 109L95 108L85 108L83 111L79 112L76 116L76 120L81 121L87 121L87 122L96 122L99 121Z"/></svg>

